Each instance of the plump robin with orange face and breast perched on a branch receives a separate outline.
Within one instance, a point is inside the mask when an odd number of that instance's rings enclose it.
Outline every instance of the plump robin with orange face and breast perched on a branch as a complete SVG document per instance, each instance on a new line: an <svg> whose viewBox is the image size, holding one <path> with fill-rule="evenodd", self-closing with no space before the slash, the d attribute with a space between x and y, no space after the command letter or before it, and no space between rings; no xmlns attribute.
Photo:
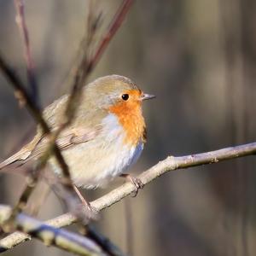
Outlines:
<svg viewBox="0 0 256 256"><path fill-rule="evenodd" d="M85 85L81 94L73 121L56 139L74 188L79 193L77 188L104 187L114 177L127 177L137 188L142 187L137 177L125 172L140 157L147 141L142 102L155 96L143 93L131 79L115 74ZM51 131L63 122L69 96L61 96L44 109L43 117ZM38 126L32 141L0 163L0 170L36 163L48 142ZM54 157L50 157L49 167L61 175Z"/></svg>

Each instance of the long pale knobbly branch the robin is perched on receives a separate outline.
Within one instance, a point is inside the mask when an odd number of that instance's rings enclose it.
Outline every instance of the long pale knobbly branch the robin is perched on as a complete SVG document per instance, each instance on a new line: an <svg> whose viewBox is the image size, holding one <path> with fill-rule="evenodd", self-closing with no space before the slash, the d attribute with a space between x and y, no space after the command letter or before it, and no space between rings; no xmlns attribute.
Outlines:
<svg viewBox="0 0 256 256"><path fill-rule="evenodd" d="M207 153L190 154L186 156L168 156L166 160L160 161L155 166L152 166L147 171L143 172L139 178L144 184L152 182L155 178L160 177L169 171L176 171L178 169L189 168L193 166L202 166L207 164L218 163L223 160L235 159L247 155L256 154L256 143L248 143L236 147L223 148ZM119 202L125 196L131 195L135 192L135 188L131 183L125 183L117 189L113 189L107 195L103 195L96 201L91 202L91 206L97 211L102 211L107 207ZM59 217L50 219L47 224L54 227L64 227L76 222L77 219L70 212L62 214ZM15 232L1 240L1 245L6 248L15 247L22 241L26 241L28 236Z"/></svg>

